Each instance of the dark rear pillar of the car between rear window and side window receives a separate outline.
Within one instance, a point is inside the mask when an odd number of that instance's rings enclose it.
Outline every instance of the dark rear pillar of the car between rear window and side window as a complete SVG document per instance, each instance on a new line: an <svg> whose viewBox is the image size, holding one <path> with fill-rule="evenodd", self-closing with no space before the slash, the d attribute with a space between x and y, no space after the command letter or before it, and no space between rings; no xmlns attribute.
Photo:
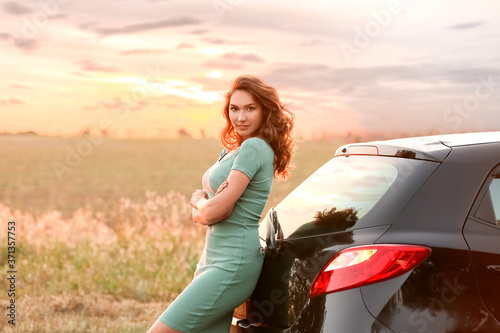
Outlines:
<svg viewBox="0 0 500 333"><path fill-rule="evenodd" d="M430 230L434 235L427 235L429 241L439 245L449 239L443 233L461 234L472 204L498 160L499 143L454 148L380 242L411 243L422 230ZM465 243L459 248L467 249Z"/></svg>

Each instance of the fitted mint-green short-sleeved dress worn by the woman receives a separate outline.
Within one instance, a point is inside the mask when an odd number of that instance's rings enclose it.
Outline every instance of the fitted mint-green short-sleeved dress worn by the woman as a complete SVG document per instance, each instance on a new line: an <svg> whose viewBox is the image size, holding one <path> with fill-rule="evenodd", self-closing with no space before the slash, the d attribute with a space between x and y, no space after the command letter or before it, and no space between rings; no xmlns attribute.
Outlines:
<svg viewBox="0 0 500 333"><path fill-rule="evenodd" d="M209 198L232 169L250 182L231 215L208 226L193 281L159 318L184 333L229 332L233 310L252 294L262 269L258 226L271 192L274 152L260 138L247 139L228 154L224 149L203 176Z"/></svg>

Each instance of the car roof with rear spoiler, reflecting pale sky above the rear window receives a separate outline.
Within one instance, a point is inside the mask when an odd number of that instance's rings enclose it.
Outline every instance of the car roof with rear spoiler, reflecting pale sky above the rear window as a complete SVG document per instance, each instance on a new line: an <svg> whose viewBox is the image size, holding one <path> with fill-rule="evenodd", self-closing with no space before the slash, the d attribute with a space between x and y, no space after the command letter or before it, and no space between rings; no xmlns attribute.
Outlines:
<svg viewBox="0 0 500 333"><path fill-rule="evenodd" d="M442 162L453 147L500 142L500 131L458 133L445 135L421 136L384 141L370 141L341 146L335 156L372 155L366 153L376 147L379 156L413 158ZM359 151L360 153L356 153Z"/></svg>

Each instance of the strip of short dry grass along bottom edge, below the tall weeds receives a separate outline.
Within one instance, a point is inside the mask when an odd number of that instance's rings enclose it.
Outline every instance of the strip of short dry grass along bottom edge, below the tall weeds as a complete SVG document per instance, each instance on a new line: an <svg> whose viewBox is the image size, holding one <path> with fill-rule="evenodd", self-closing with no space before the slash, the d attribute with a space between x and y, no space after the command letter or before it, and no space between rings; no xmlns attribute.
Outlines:
<svg viewBox="0 0 500 333"><path fill-rule="evenodd" d="M22 312L16 327L6 325L2 332L145 332L168 304L97 293L25 295L18 302ZM6 305L0 300L2 308Z"/></svg>

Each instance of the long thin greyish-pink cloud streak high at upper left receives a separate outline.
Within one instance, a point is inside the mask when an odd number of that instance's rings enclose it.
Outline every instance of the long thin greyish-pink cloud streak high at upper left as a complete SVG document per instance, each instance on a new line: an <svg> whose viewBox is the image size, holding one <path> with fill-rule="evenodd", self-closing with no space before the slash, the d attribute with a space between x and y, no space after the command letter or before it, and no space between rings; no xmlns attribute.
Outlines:
<svg viewBox="0 0 500 333"><path fill-rule="evenodd" d="M180 27L184 25L200 24L201 21L192 17L178 17L156 22L130 24L119 28L95 28L94 31L101 36L132 34L142 31L150 31L163 28Z"/></svg>

